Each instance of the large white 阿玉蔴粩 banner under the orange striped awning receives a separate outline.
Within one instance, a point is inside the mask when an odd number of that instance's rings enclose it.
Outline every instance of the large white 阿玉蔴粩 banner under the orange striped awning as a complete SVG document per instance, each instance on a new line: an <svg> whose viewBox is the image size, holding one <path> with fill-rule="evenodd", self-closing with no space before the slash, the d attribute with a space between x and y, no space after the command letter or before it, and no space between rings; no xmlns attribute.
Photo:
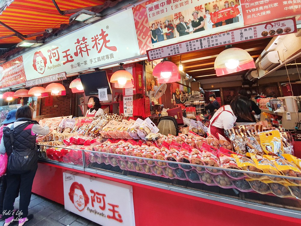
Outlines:
<svg viewBox="0 0 301 226"><path fill-rule="evenodd" d="M26 80L33 80L62 71L70 74L101 67L139 55L133 13L128 9L25 53L23 64Z"/></svg>

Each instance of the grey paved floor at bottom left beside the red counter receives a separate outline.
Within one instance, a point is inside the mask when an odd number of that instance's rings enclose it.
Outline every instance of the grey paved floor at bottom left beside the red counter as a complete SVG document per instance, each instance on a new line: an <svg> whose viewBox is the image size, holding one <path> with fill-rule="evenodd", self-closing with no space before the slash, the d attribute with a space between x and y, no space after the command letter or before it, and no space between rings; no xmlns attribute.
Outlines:
<svg viewBox="0 0 301 226"><path fill-rule="evenodd" d="M14 206L18 209L19 197L15 201ZM28 214L33 214L34 217L26 226L99 226L99 224L65 210L63 205L35 194L31 196ZM4 220L0 221L0 225L3 224Z"/></svg>

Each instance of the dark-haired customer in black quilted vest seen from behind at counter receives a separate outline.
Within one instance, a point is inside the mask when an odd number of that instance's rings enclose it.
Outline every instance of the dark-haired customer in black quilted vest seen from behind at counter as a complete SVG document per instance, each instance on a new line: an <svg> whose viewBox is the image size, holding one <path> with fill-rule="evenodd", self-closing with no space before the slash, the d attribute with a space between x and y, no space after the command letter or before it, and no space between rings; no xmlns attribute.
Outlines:
<svg viewBox="0 0 301 226"><path fill-rule="evenodd" d="M38 148L36 134L47 135L49 127L42 127L32 119L33 108L21 106L16 112L16 122L3 128L0 153L10 154L7 164L7 189L3 203L4 226L18 220L23 226L33 218L28 215L33 179L38 169ZM26 157L26 158L25 158ZM20 206L18 219L14 219L14 200L20 184Z"/></svg>

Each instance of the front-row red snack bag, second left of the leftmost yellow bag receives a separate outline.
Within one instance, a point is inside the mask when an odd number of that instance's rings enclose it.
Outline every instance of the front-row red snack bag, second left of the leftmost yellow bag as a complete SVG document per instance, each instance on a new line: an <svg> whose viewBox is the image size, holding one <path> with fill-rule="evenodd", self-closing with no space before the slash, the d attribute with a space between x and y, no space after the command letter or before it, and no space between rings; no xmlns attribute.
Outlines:
<svg viewBox="0 0 301 226"><path fill-rule="evenodd" d="M218 155L218 149L203 143L201 147L202 151L202 157L201 160L204 165L207 166L213 166L213 167L219 167L219 158ZM211 174L221 174L222 171L219 169L213 169L213 168L206 168L206 171L208 171Z"/></svg>

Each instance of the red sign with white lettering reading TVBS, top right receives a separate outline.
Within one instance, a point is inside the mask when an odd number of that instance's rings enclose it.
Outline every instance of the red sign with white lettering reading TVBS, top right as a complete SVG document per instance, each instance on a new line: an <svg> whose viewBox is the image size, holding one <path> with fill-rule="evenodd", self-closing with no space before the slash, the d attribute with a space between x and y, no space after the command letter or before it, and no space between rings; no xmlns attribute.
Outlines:
<svg viewBox="0 0 301 226"><path fill-rule="evenodd" d="M242 0L244 25L301 14L301 0Z"/></svg>

